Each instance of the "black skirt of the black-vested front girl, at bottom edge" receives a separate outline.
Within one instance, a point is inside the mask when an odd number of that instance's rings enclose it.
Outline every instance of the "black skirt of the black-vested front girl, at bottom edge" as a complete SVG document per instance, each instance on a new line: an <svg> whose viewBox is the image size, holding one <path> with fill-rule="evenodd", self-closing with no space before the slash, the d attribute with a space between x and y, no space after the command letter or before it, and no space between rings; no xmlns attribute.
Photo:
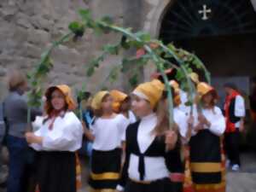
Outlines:
<svg viewBox="0 0 256 192"><path fill-rule="evenodd" d="M173 192L173 183L170 178L163 178L152 183L136 183L127 181L125 192Z"/></svg>

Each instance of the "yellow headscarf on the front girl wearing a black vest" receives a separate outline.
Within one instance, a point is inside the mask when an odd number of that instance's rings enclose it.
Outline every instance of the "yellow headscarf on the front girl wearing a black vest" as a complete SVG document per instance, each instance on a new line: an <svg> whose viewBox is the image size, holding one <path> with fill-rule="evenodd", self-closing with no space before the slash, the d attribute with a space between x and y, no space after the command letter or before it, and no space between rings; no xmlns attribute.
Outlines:
<svg viewBox="0 0 256 192"><path fill-rule="evenodd" d="M160 101L160 98L165 90L165 85L158 79L154 79L151 82L139 84L133 94L142 97L150 103L151 108L155 108L156 103Z"/></svg>

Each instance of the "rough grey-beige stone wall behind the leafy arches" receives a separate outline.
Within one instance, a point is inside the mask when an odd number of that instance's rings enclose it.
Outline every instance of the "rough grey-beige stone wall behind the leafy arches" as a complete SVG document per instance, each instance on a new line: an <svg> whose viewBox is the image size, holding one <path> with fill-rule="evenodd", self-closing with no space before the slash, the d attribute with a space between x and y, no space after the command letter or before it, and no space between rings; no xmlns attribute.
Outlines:
<svg viewBox="0 0 256 192"><path fill-rule="evenodd" d="M131 26L157 37L160 13L170 0L1 0L0 1L0 99L6 93L9 70L26 73L34 67L41 53L51 42L68 31L68 23L77 20L79 8L90 8L94 17L110 15L120 26ZM91 91L104 84L109 69L119 63L119 57L109 57L96 74L86 79L85 67L90 59L100 54L102 44L115 42L115 34L102 38L87 32L77 44L61 45L54 51L55 68L46 84L69 84L79 89L82 83ZM148 67L148 74L154 67ZM143 71L142 71L143 77ZM147 79L147 75L146 75ZM122 88L126 78L120 77L113 88Z"/></svg>

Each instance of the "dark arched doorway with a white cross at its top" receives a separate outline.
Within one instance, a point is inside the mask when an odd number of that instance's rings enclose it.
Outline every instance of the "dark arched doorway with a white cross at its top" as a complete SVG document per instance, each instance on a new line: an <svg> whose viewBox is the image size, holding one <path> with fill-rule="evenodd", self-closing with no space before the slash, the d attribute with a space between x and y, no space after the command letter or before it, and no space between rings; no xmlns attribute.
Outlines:
<svg viewBox="0 0 256 192"><path fill-rule="evenodd" d="M250 80L256 76L256 12L251 1L176 0L163 16L160 39L201 58L212 73L220 107L226 81L250 94Z"/></svg>

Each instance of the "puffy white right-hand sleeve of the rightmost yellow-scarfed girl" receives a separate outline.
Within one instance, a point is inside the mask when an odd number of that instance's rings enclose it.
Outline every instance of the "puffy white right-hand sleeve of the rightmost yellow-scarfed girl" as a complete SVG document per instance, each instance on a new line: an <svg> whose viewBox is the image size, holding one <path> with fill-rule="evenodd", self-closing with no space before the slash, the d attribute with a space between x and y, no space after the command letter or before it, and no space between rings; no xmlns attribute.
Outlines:
<svg viewBox="0 0 256 192"><path fill-rule="evenodd" d="M224 134L225 131L225 119L224 116L219 108L214 108L214 118L210 121L211 127L209 127L209 130L217 136L221 136Z"/></svg>

